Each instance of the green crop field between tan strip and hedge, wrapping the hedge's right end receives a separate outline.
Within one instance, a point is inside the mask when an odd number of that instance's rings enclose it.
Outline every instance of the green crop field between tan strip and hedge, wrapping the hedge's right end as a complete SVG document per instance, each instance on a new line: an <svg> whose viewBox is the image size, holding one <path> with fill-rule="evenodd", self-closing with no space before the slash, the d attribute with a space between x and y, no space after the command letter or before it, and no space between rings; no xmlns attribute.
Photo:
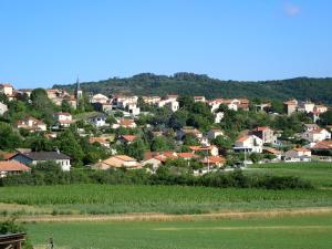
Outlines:
<svg viewBox="0 0 332 249"><path fill-rule="evenodd" d="M165 212L332 206L331 164L253 165L246 174L299 176L315 189L268 190L184 186L62 185L0 188L0 212L71 215Z"/></svg>

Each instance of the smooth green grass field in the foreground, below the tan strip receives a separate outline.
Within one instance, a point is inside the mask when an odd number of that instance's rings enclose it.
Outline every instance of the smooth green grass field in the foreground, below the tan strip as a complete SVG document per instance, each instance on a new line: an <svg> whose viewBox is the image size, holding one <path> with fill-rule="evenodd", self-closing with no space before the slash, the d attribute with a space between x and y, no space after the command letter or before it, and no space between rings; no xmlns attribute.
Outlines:
<svg viewBox="0 0 332 249"><path fill-rule="evenodd" d="M154 222L25 225L34 245L63 249L330 249L332 215Z"/></svg>

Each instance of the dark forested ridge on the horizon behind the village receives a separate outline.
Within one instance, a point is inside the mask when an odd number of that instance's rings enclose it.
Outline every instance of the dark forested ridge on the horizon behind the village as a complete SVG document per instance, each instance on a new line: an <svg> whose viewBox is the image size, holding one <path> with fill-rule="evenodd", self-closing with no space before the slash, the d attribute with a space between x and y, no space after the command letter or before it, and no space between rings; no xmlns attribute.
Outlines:
<svg viewBox="0 0 332 249"><path fill-rule="evenodd" d="M75 84L54 85L74 90ZM89 93L135 95L205 95L214 97L260 97L267 100L311 100L332 104L332 77L295 77L277 81L222 81L205 74L175 73L172 76L142 73L131 77L112 77L82 82Z"/></svg>

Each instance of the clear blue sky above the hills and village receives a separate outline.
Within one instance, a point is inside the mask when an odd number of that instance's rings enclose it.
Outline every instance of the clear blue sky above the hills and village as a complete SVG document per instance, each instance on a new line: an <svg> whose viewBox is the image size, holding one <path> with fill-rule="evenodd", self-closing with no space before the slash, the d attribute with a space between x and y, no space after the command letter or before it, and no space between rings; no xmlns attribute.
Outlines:
<svg viewBox="0 0 332 249"><path fill-rule="evenodd" d="M330 0L1 0L0 82L332 76Z"/></svg>

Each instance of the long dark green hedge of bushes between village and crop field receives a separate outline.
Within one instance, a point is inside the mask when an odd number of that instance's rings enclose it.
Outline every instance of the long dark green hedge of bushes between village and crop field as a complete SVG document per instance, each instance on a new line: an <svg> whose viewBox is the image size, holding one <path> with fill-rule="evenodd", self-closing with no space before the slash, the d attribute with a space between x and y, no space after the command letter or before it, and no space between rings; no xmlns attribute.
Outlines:
<svg viewBox="0 0 332 249"><path fill-rule="evenodd" d="M177 170L175 170L175 168ZM179 174L181 172L181 174ZM14 185L58 185L58 184L144 184L144 185L186 185L206 187L236 187L236 188L267 188L267 189L295 189L313 188L310 181L298 177L282 177L268 175L245 175L241 170L232 173L210 173L204 176L193 176L181 166L165 165L156 174L147 170L90 170L75 169L62 172L60 166L46 162L32 167L31 173L12 175L0 179L1 186Z"/></svg>

